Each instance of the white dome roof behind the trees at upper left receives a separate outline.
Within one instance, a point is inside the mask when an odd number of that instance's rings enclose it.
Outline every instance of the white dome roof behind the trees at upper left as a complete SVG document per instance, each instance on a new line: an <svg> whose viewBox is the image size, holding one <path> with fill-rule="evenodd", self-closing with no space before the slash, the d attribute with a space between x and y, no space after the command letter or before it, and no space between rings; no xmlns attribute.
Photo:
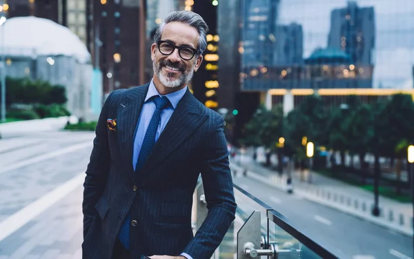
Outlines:
<svg viewBox="0 0 414 259"><path fill-rule="evenodd" d="M49 19L13 17L0 26L0 35L5 37L7 55L65 55L79 63L90 63L90 53L81 39Z"/></svg>

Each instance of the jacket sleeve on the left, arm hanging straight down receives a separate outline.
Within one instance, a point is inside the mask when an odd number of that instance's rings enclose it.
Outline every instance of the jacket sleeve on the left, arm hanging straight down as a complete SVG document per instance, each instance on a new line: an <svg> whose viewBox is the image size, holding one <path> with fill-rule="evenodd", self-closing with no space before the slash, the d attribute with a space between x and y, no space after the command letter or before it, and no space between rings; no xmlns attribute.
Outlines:
<svg viewBox="0 0 414 259"><path fill-rule="evenodd" d="M92 220L97 216L95 204L99 200L108 178L110 151L106 119L112 93L106 99L105 104L103 104L101 114L99 115L97 127L95 128L92 153L88 168L86 169L85 182L83 182L83 238L86 238Z"/></svg>

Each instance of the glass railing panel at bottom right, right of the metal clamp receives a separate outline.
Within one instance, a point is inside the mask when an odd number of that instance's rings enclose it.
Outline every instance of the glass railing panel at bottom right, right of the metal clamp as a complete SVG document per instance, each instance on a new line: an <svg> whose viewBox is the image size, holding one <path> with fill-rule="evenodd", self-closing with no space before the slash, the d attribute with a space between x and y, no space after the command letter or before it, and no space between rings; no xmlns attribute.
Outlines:
<svg viewBox="0 0 414 259"><path fill-rule="evenodd" d="M277 247L279 258L285 258L288 254L290 258L301 259L345 258L339 251L328 251L305 236L275 210L268 211L268 223L269 244Z"/></svg>

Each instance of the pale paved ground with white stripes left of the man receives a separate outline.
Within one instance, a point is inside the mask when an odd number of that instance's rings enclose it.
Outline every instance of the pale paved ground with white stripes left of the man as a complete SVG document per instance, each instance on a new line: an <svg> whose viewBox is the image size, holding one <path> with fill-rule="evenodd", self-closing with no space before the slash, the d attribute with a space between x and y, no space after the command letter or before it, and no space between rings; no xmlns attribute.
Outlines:
<svg viewBox="0 0 414 259"><path fill-rule="evenodd" d="M81 187L94 133L0 140L0 258L81 258Z"/></svg>

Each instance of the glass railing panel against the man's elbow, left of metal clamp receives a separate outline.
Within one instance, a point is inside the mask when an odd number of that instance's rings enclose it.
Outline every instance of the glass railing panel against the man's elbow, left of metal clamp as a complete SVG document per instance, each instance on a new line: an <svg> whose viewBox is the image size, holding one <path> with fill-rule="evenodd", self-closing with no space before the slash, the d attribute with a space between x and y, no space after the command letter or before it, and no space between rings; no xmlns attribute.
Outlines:
<svg viewBox="0 0 414 259"><path fill-rule="evenodd" d="M270 207L268 207L268 205L264 204L263 202L257 200L253 195L250 195L250 193L247 193L243 189L239 188L239 186L235 185L234 192L235 200L237 203L236 218L230 229L228 229L226 236L224 236L223 242L221 242L213 258L236 258L235 254L237 253L237 232L243 226L244 222L246 222L248 217L253 213L253 211L260 211L262 236L267 236L266 211L270 209ZM264 256L263 258L267 257Z"/></svg>

